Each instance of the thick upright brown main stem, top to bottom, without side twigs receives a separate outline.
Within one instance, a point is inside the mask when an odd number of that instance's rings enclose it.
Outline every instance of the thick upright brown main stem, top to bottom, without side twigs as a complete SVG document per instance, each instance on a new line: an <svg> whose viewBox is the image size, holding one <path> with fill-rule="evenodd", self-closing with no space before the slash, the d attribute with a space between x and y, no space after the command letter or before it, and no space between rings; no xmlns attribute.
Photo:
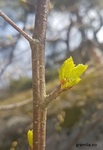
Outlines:
<svg viewBox="0 0 103 150"><path fill-rule="evenodd" d="M48 0L37 1L37 11L32 49L33 76L33 150L45 150L46 139L46 108L41 104L45 100L45 38L48 12Z"/></svg>

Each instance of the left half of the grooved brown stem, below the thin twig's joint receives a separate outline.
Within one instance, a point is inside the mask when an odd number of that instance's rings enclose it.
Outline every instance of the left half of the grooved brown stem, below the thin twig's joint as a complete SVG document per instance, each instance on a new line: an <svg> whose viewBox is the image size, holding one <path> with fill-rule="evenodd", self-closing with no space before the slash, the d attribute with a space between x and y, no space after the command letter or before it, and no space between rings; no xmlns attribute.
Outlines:
<svg viewBox="0 0 103 150"><path fill-rule="evenodd" d="M40 114L39 114L39 99L40 99L40 89L39 89L39 49L38 42L32 41L30 43L32 50L32 87L33 87L33 135L35 135L35 150L39 150L39 130L40 130Z"/></svg>

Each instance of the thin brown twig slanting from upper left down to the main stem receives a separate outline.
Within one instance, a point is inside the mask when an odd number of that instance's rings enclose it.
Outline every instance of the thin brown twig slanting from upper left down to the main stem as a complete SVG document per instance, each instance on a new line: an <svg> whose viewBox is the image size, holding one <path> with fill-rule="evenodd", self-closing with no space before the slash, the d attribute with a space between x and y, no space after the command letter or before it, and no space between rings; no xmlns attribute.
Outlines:
<svg viewBox="0 0 103 150"><path fill-rule="evenodd" d="M29 42L32 41L32 37L30 37L26 32L24 32L22 29L20 29L7 15L5 15L0 10L0 16L4 18L13 28L15 28L23 37L25 37Z"/></svg>

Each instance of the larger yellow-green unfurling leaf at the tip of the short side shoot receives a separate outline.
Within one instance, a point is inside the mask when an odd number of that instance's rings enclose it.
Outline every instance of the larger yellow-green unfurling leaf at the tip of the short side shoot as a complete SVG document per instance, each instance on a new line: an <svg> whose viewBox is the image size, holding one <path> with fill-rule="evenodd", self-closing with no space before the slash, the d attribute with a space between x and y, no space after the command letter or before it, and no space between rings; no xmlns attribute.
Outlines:
<svg viewBox="0 0 103 150"><path fill-rule="evenodd" d="M66 89L77 84L81 80L80 76L87 69L87 67L87 65L83 64L76 66L72 57L65 60L59 70L61 88Z"/></svg>

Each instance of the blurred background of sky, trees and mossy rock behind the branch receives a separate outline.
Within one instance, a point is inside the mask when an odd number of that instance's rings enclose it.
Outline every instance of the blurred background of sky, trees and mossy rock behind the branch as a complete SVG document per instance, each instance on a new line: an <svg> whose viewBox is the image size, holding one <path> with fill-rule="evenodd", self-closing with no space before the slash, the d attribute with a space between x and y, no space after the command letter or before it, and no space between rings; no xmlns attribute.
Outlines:
<svg viewBox="0 0 103 150"><path fill-rule="evenodd" d="M36 0L0 0L0 9L32 36ZM68 57L89 67L78 85L49 105L46 150L102 150L103 1L51 0L49 9L47 91L58 85L59 67ZM1 150L28 150L26 134L32 129L31 74L28 42L0 17Z"/></svg>

